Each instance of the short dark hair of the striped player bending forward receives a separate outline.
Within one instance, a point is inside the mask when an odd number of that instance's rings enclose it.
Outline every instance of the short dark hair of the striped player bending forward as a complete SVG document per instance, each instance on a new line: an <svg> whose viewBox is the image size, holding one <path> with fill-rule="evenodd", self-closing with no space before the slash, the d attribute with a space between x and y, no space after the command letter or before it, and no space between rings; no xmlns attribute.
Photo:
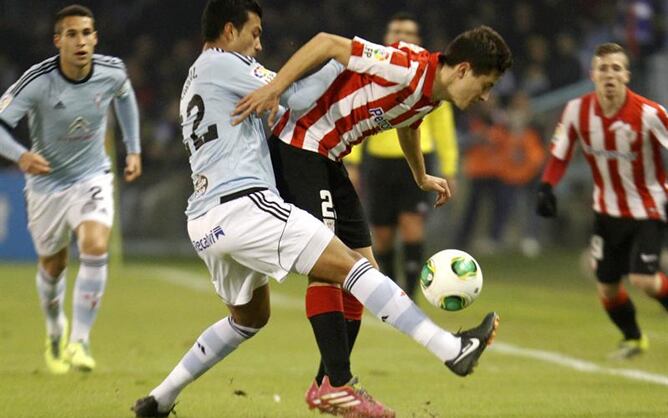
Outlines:
<svg viewBox="0 0 668 418"><path fill-rule="evenodd" d="M513 65L513 56L501 35L489 26L478 26L457 35L440 61L451 67L468 62L475 75L501 75Z"/></svg>

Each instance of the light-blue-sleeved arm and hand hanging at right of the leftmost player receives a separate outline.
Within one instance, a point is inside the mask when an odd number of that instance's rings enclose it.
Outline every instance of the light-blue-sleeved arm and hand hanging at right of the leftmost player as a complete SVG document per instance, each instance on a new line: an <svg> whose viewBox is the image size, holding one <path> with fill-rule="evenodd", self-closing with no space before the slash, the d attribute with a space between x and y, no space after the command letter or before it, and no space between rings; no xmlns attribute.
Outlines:
<svg viewBox="0 0 668 418"><path fill-rule="evenodd" d="M114 97L114 111L123 134L126 157L125 181L131 182L141 176L141 144L139 141L139 107L129 79L126 79Z"/></svg>

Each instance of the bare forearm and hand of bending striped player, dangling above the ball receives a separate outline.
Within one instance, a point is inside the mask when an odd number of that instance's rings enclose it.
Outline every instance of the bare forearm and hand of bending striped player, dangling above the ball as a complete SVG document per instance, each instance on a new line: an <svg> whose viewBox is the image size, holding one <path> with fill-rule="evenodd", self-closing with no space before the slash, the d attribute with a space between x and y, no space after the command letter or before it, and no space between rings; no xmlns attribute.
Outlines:
<svg viewBox="0 0 668 418"><path fill-rule="evenodd" d="M452 194L447 180L427 174L422 148L420 147L420 131L410 127L398 128L397 135L401 150L408 162L411 173L413 173L415 183L424 191L436 192L438 197L434 206L442 206L450 199Z"/></svg>

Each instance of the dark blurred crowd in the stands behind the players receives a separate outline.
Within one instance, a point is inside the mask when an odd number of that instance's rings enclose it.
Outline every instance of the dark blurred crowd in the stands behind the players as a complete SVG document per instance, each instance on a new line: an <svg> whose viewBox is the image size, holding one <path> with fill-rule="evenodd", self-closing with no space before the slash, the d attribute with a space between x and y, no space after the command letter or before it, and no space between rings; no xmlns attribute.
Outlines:
<svg viewBox="0 0 668 418"><path fill-rule="evenodd" d="M125 61L141 110L144 176L131 185L119 183L126 254L191 254L183 210L192 185L178 99L188 67L201 50L200 15L206 2L80 3L96 15L97 52ZM556 222L533 214L533 195L561 108L592 89L588 70L596 44L624 45L632 60L632 88L659 103L668 100L668 0L260 3L264 32L258 59L274 70L319 31L382 42L386 22L400 11L417 17L424 46L431 50L442 50L456 34L479 24L494 27L507 40L515 64L495 88L495 99L456 115L456 199L430 216L432 249L521 250L532 256L545 246L586 245L591 180L581 157L557 189ZM0 0L1 91L29 66L56 53L53 15L67 4ZM16 135L28 143L25 126ZM122 144L116 142L122 156ZM0 170L16 167L0 159ZM517 172L522 174L512 175Z"/></svg>

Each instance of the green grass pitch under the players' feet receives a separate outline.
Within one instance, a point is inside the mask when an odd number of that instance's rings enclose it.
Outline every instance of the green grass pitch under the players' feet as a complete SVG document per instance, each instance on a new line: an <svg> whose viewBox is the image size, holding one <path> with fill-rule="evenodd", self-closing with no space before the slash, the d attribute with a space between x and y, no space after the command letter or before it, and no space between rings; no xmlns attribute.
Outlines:
<svg viewBox="0 0 668 418"><path fill-rule="evenodd" d="M485 286L471 308L445 313L419 300L442 326L470 327L494 309L501 314L499 342L558 352L606 369L668 376L668 315L656 302L631 291L651 350L614 362L606 355L618 333L575 255L479 261ZM131 417L134 400L169 373L206 327L226 315L199 261L113 267L92 334L98 368L88 375L52 376L42 359L44 324L34 272L32 265L0 266L0 417ZM70 291L75 272L72 266ZM187 284L175 283L179 280ZM304 288L305 280L297 276L283 285L272 283L269 325L184 391L179 418L319 416L303 401L318 361L304 317ZM70 294L67 307L69 312ZM668 414L664 385L580 372L502 350L487 352L476 373L462 379L371 318L365 319L352 363L367 389L399 417Z"/></svg>

